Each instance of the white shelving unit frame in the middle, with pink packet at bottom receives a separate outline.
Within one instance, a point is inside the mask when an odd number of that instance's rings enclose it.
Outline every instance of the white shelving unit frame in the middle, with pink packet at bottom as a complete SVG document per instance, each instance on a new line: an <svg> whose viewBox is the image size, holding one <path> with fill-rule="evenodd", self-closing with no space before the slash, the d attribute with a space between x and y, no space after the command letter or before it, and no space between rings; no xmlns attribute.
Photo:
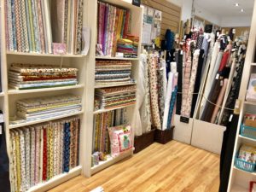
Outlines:
<svg viewBox="0 0 256 192"><path fill-rule="evenodd" d="M137 37L140 37L140 42L138 46L138 53L141 52L140 45L141 45L141 37L142 37L142 27L143 27L143 8L137 7L132 5L131 3L125 2L125 0L104 0L102 2L105 3L111 3L113 5L117 5L121 8L130 9L131 11L131 34L136 35ZM123 160L124 158L131 156L133 153L132 150L129 152L120 155L117 158L111 158L109 157L108 160L103 161L98 166L91 167L91 154L92 154L92 141L93 141L93 121L94 121L94 115L96 113L104 113L107 111L112 111L119 108L112 108L112 109L103 109L94 111L94 91L96 88L103 88L103 87L114 87L114 86L120 86L124 84L111 84L111 85L96 85L92 82L95 79L95 64L96 60L126 60L131 61L132 63L132 78L137 80L138 77L138 64L139 59L138 58L119 58L119 57L106 57L106 56L96 56L96 34L97 34L97 1L88 1L88 14L90 15L90 20L88 20L88 24L90 26L90 33L91 33L91 39L90 39L90 53L88 55L88 63L90 65L87 66L87 77L86 77L86 135L87 135L87 141L86 141L86 147L85 147L85 154L86 154L86 160L85 160L85 166L83 167L85 176L90 177L92 174L95 174L96 172L101 171L102 169L113 165L119 160ZM139 54L138 54L139 55ZM125 108L128 110L128 116L129 121L132 118L133 112L134 112L135 105L130 105ZM124 107L120 107L124 108Z"/></svg>

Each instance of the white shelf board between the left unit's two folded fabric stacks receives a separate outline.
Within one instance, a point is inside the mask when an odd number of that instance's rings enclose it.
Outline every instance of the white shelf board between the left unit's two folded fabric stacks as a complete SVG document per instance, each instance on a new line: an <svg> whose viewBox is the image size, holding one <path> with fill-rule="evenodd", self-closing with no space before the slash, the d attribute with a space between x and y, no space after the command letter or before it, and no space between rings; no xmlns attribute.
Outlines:
<svg viewBox="0 0 256 192"><path fill-rule="evenodd" d="M63 86L63 87L51 87L51 88L43 88L43 89L32 89L32 90L8 90L9 95L15 94L24 94L24 93L36 93L36 92L44 92L44 91L55 91L55 90L72 90L72 89L80 89L84 88L84 84L77 84L73 86Z"/></svg>

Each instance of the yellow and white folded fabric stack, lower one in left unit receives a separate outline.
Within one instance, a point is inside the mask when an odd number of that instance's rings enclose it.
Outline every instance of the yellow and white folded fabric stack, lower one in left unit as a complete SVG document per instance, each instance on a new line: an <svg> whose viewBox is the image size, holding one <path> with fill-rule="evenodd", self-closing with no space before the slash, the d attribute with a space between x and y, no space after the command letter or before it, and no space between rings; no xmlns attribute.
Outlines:
<svg viewBox="0 0 256 192"><path fill-rule="evenodd" d="M22 119L38 120L81 111L81 97L73 95L46 96L23 99L16 103L17 116Z"/></svg>

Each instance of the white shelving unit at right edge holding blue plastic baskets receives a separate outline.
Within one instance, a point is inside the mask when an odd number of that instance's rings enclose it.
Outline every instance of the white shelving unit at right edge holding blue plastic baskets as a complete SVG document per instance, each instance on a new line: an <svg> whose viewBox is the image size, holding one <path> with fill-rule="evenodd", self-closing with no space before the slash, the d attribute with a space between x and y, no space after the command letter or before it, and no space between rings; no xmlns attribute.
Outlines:
<svg viewBox="0 0 256 192"><path fill-rule="evenodd" d="M243 120L243 116L245 113L256 113L256 102L247 102L246 101L246 94L247 94L247 85L250 79L251 73L255 73L255 61L254 61L254 55L255 55L255 46L256 46L256 26L255 26L255 20L256 20L256 1L254 1L253 6L253 19L252 19L252 25L251 25L251 31L249 35L249 40L247 44L247 55L246 60L243 68L242 73L242 81L241 81L241 89L239 93L239 99L241 101L241 110L240 110L240 117L238 121L238 127L236 132L236 143L234 147L233 152L233 160L230 170L230 182L228 191L229 192L243 192L243 191L249 191L249 182L250 181L256 181L256 173L253 172L244 172L240 169L236 168L235 166L235 158L236 158L236 152L239 150L242 143L249 143L256 146L256 140L252 138L242 137L240 135L240 125Z"/></svg>

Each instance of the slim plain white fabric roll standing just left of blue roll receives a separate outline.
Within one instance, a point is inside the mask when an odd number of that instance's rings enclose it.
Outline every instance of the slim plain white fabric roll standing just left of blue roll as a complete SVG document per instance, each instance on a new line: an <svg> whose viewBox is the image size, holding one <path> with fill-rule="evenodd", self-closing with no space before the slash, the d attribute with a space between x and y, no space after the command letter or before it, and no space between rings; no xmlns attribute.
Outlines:
<svg viewBox="0 0 256 192"><path fill-rule="evenodd" d="M167 121L168 121L168 113L170 108L170 102L172 97L172 83L173 83L173 76L174 74L172 72L168 73L168 84L167 84L167 94L166 94L166 103L165 103L165 113L163 118L163 126L162 130L167 129Z"/></svg>

